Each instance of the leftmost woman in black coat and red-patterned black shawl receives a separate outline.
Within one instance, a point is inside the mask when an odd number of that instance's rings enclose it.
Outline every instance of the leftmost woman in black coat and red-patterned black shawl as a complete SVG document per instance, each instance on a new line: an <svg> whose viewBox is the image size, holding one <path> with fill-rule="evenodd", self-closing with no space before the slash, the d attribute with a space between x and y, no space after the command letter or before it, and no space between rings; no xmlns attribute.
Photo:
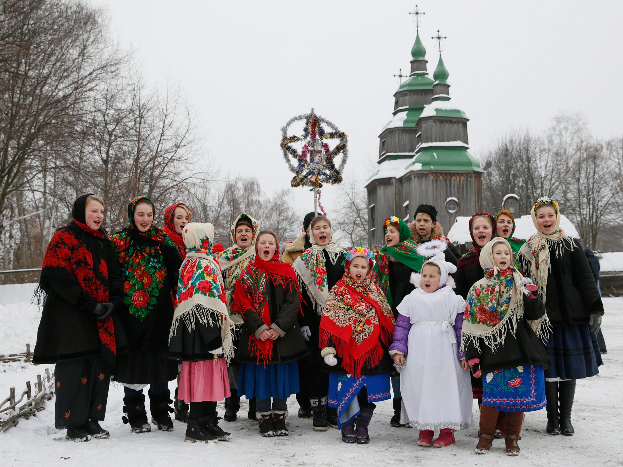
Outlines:
<svg viewBox="0 0 623 467"><path fill-rule="evenodd" d="M117 314L121 273L105 230L104 203L80 196L74 220L50 240L37 294L45 296L32 362L55 363L55 425L67 438L108 438L104 419L110 375L126 351Z"/></svg>

